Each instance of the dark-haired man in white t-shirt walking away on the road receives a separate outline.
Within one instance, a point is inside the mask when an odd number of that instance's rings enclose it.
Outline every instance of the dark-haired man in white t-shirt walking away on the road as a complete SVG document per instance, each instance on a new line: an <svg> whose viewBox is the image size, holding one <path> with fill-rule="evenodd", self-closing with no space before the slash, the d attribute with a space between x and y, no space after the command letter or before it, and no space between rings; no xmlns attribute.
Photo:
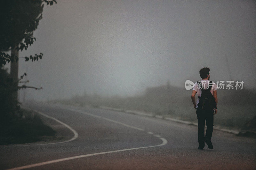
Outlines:
<svg viewBox="0 0 256 170"><path fill-rule="evenodd" d="M218 103L218 98L217 98L217 85L213 82L210 84L210 69L207 67L202 68L199 71L200 77L202 78L201 81L198 81L194 84L193 90L192 90L192 95L191 99L194 105L194 108L196 109L196 115L197 115L197 120L198 120L198 143L199 146L197 149L203 149L204 148L204 142L208 145L209 149L212 149L212 131L213 131L213 115L217 114L217 103ZM209 89L211 88L211 90ZM199 98L201 98L202 90L208 89L212 93L212 96L214 98L213 102L216 102L216 106L214 103L214 108L204 108L204 105L199 103ZM198 95L198 99L196 102L196 93ZM205 94L205 92L204 92ZM211 97L212 97L211 96ZM202 98L201 98L202 100ZM200 107L198 107L198 103L200 104ZM206 133L204 136L204 120L206 121Z"/></svg>

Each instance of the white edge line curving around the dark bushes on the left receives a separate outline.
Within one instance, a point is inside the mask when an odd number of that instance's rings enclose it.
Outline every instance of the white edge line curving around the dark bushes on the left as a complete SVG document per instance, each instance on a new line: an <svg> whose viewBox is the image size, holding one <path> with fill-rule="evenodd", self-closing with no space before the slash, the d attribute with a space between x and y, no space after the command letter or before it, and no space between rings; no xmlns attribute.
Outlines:
<svg viewBox="0 0 256 170"><path fill-rule="evenodd" d="M34 110L34 111L37 112L37 113L39 113L40 115L43 115L43 116L45 116L45 117L48 117L48 118L50 118L50 119L55 120L56 122L58 122L58 123L64 125L65 127L67 127L69 130L71 130L71 131L74 133L74 137L71 138L71 139L69 139L69 140L67 140L67 141L55 142L55 143L50 143L50 144L61 144L61 143L65 143L65 142L70 142L70 141L72 141L72 140L75 140L75 139L78 137L78 133L76 132L76 130L72 129L72 128L71 128L70 126L68 126L67 124L65 124L65 123L63 123L63 122L61 122L61 121L59 121L58 119L55 119L54 117L45 115L45 114L43 114L42 112L39 112L39 111L37 111L37 110ZM0 147L5 147L5 146L31 146L31 145L46 145L46 144L2 145L2 146L0 146Z"/></svg>

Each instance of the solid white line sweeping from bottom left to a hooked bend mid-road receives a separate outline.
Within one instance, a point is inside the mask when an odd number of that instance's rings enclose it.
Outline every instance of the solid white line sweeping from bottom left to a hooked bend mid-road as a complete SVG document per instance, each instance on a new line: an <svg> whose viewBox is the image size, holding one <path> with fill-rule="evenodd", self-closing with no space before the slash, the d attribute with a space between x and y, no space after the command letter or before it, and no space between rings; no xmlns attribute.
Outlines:
<svg viewBox="0 0 256 170"><path fill-rule="evenodd" d="M152 147L163 146L163 145L167 144L166 139L164 139L163 137L160 137L160 139L163 141L163 143L159 144L159 145L155 145L155 146L145 146L145 147L139 147L139 148L130 148L130 149L117 150L117 151L99 152L99 153L92 153L92 154L86 154L86 155L80 155L80 156L73 156L73 157L69 157L69 158L56 159L56 160L41 162L41 163L37 163L37 164L31 164L31 165L27 165L27 166L20 166L20 167L12 168L12 169L9 169L9 170L26 169L26 168L32 168L32 167L36 167L36 166L42 166L42 165L57 163L57 162L61 162L61 161L71 160L71 159L78 159L78 158L84 158L84 157L89 157L89 156L102 155L102 154L115 153L115 152L122 152L122 151L129 151L129 150L142 149L142 148L152 148Z"/></svg>

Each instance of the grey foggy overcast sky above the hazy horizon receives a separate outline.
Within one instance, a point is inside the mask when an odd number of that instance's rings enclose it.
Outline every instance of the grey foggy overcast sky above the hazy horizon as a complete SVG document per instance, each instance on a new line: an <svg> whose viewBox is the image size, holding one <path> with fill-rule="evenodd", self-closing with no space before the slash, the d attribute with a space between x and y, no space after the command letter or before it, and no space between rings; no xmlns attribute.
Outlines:
<svg viewBox="0 0 256 170"><path fill-rule="evenodd" d="M255 1L64 1L45 6L28 67L36 100L86 91L130 96L148 86L184 87L210 68L211 80L244 80L256 88ZM21 92L22 93L22 92Z"/></svg>

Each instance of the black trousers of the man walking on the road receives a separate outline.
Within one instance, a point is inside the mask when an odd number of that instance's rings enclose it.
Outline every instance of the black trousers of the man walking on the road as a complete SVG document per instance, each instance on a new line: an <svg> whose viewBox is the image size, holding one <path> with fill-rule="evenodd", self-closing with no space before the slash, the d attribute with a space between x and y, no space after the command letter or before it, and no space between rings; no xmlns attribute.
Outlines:
<svg viewBox="0 0 256 170"><path fill-rule="evenodd" d="M198 120L198 143L204 143L204 138L211 140L213 131L213 110L202 110L197 108L196 115ZM206 121L206 132L204 137L204 120Z"/></svg>

